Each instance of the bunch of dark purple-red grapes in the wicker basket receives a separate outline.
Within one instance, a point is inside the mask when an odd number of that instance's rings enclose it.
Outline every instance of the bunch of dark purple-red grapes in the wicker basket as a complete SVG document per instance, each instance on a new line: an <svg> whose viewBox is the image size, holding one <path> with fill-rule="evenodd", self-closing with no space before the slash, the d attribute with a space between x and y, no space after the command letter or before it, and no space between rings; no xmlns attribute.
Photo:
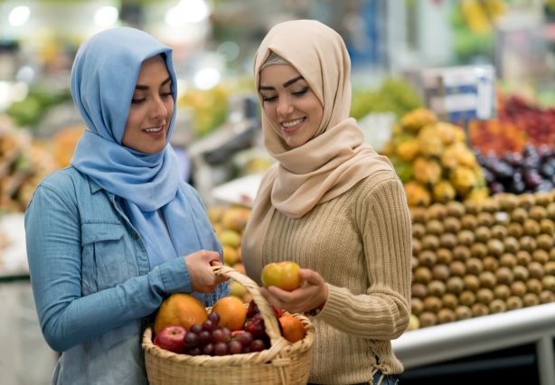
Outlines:
<svg viewBox="0 0 555 385"><path fill-rule="evenodd" d="M220 325L220 315L212 312L202 324L193 324L185 334L184 353L189 355L221 356L246 352L260 352L267 348L262 336L242 331L231 334L230 329Z"/></svg>

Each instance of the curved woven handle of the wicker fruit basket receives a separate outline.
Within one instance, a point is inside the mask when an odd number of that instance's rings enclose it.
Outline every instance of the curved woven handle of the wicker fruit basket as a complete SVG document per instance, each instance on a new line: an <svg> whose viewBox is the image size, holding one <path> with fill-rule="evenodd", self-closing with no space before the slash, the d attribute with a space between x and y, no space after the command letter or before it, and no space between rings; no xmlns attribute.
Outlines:
<svg viewBox="0 0 555 385"><path fill-rule="evenodd" d="M262 314L262 318L264 319L264 327L272 346L287 344L287 340L283 338L281 336L281 333L279 332L278 318L276 317L274 308L272 307L272 305L269 305L266 298L262 296L262 293L260 292L260 287L254 280L244 274L241 274L236 269L230 268L229 266L214 265L212 266L212 270L218 276L230 277L234 281L239 282L249 291L249 293L252 295L252 299L254 299L254 302L256 302L259 307L259 311Z"/></svg>

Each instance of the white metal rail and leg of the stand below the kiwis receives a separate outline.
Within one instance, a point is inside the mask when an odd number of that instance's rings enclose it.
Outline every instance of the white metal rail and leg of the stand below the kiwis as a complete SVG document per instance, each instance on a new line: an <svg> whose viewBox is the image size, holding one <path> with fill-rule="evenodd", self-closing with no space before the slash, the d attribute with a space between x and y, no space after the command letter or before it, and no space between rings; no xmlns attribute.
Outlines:
<svg viewBox="0 0 555 385"><path fill-rule="evenodd" d="M410 331L392 342L406 370L534 343L541 385L555 383L555 304Z"/></svg>

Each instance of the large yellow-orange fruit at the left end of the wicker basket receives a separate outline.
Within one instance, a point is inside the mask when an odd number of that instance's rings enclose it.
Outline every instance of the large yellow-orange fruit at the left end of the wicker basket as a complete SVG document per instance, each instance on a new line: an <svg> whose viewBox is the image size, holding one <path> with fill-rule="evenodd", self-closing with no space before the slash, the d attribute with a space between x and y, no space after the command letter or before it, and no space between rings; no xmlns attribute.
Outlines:
<svg viewBox="0 0 555 385"><path fill-rule="evenodd" d="M186 330L193 324L202 324L208 312L201 301L185 293L174 293L162 302L155 317L155 333L165 326L179 324Z"/></svg>

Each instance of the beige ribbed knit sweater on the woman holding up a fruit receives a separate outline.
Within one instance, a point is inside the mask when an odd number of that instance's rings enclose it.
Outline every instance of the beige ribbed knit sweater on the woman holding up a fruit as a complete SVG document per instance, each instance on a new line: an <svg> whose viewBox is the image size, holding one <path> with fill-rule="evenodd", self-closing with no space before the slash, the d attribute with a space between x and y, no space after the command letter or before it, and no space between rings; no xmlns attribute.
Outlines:
<svg viewBox="0 0 555 385"><path fill-rule="evenodd" d="M403 371L390 340L409 324L410 242L405 192L392 172L366 177L302 218L275 211L263 265L294 260L328 284L313 319L310 382L353 384L372 381L376 370Z"/></svg>

